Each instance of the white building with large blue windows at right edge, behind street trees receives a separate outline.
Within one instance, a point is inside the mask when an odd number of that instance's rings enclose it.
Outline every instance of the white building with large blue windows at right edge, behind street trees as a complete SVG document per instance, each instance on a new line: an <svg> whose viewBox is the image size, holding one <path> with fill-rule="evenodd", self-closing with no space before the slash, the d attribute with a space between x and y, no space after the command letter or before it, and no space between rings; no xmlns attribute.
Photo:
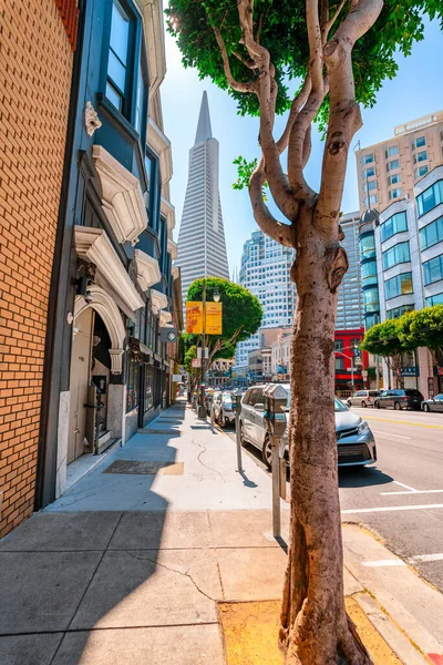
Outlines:
<svg viewBox="0 0 443 665"><path fill-rule="evenodd" d="M443 166L414 186L413 198L392 203L373 223L380 318L443 304ZM427 397L443 390L426 349L419 349L404 369L406 387ZM388 368L384 386L392 385Z"/></svg>

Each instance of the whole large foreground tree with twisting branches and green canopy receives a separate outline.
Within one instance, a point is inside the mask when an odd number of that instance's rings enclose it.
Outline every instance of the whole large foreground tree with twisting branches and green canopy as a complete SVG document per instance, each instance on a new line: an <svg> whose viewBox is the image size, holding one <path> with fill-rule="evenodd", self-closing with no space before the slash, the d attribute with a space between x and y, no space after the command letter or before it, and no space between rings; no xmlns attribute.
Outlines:
<svg viewBox="0 0 443 665"><path fill-rule="evenodd" d="M259 116L261 155L247 183L254 216L268 236L297 250L292 514L279 634L291 665L370 663L343 602L333 334L348 258L338 217L348 152L361 126L359 102L372 104L395 74L395 50L408 54L422 39L423 12L441 16L441 0L169 0L167 10L185 66L227 89L240 113ZM300 86L291 96L293 79ZM284 112L277 137L276 114ZM326 133L319 192L303 173L315 119ZM249 170L239 166L241 181ZM266 183L284 222L266 205Z"/></svg>

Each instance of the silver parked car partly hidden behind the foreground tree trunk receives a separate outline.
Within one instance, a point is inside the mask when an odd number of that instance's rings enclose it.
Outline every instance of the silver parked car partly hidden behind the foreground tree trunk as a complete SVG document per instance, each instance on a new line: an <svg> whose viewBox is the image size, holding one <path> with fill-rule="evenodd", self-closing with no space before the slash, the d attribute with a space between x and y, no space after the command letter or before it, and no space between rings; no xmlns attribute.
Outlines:
<svg viewBox="0 0 443 665"><path fill-rule="evenodd" d="M269 386L269 383L267 383ZM246 391L241 400L239 419L241 444L251 443L261 451L265 464L271 467L271 444L264 419L265 386L254 386ZM284 385L288 393L286 411L289 412L289 385ZM339 453L339 467L372 464L377 461L377 447L368 422L362 420L337 397L334 398L336 434ZM289 463L287 436L285 437L285 459Z"/></svg>

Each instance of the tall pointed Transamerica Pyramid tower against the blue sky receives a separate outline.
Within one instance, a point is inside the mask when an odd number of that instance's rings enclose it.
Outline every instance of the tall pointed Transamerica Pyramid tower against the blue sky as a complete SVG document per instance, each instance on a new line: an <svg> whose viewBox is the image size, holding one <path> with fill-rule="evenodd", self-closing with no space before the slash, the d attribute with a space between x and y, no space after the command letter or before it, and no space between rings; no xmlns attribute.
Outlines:
<svg viewBox="0 0 443 665"><path fill-rule="evenodd" d="M206 91L194 146L189 151L189 175L178 233L175 264L182 270L183 301L198 277L229 279L218 192L218 141L213 137Z"/></svg>

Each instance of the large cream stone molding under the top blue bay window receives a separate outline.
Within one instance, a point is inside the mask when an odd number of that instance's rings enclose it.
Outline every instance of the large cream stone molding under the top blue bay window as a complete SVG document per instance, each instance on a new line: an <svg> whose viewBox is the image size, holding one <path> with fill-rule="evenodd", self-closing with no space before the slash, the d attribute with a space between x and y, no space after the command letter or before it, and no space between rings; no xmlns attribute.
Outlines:
<svg viewBox="0 0 443 665"><path fill-rule="evenodd" d="M92 158L102 185L102 205L119 243L135 244L147 226L147 213L138 178L101 145Z"/></svg>

